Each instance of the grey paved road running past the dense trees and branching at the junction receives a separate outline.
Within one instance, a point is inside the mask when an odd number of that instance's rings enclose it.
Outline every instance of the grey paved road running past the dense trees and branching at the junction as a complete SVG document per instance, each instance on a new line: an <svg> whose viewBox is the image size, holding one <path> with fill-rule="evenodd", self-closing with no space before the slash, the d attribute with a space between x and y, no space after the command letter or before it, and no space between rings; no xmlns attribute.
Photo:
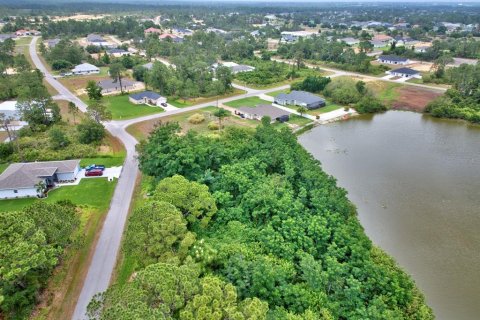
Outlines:
<svg viewBox="0 0 480 320"><path fill-rule="evenodd" d="M81 111L86 112L87 105L70 92L65 86L63 86L53 75L47 70L43 62L40 60L37 51L36 44L39 37L34 37L30 43L30 56L35 64L36 68L43 72L45 80L58 91L58 95L54 96L56 100L68 100L74 102ZM243 96L234 96L225 99L219 99L218 103L225 103L233 101L242 97L252 97L259 94L265 94L278 90L288 89L289 85L284 85L267 90L255 90L247 88L241 85L235 85L236 88L243 89L246 93ZM100 238L92 262L90 264L87 277L84 281L80 297L77 301L77 305L72 316L74 320L85 319L85 312L88 303L92 297L108 289L110 278L112 276L117 254L121 245L122 234L127 220L128 211L134 191L135 181L138 176L138 163L135 158L135 145L138 143L135 138L129 135L125 129L129 125L137 122L159 119L174 114L188 112L192 110L201 109L207 106L215 105L216 101L206 102L195 106L182 108L178 110L168 111L160 114L154 114L136 119L122 120L122 121L110 121L105 124L106 129L115 137L119 138L125 145L127 151L127 157L123 165L123 171L118 179L117 187L113 194L112 201L110 203L110 209L107 213Z"/></svg>

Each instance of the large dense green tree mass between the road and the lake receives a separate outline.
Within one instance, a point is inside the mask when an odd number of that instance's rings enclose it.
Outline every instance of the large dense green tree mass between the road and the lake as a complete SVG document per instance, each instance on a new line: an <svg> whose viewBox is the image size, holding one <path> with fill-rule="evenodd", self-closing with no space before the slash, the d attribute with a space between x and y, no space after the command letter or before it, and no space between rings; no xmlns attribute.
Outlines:
<svg viewBox="0 0 480 320"><path fill-rule="evenodd" d="M288 130L268 121L219 137L178 130L157 127L140 146L141 170L159 183L129 219L124 252L136 273L98 297L92 315L433 318Z"/></svg>

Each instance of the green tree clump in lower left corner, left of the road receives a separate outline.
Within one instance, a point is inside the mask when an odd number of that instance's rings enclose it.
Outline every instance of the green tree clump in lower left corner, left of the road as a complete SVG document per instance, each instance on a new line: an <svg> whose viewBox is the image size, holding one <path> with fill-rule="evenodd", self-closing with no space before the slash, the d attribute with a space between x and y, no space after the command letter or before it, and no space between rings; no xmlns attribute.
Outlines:
<svg viewBox="0 0 480 320"><path fill-rule="evenodd" d="M70 202L0 212L0 316L28 316L80 224Z"/></svg>

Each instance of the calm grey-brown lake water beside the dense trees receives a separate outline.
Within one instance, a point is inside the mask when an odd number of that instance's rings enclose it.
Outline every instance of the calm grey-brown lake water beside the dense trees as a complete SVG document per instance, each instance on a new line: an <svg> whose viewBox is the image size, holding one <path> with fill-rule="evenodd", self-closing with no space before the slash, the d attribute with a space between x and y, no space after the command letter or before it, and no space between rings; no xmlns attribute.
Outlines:
<svg viewBox="0 0 480 320"><path fill-rule="evenodd" d="M390 111L319 126L300 143L349 193L368 236L437 319L480 319L480 127Z"/></svg>

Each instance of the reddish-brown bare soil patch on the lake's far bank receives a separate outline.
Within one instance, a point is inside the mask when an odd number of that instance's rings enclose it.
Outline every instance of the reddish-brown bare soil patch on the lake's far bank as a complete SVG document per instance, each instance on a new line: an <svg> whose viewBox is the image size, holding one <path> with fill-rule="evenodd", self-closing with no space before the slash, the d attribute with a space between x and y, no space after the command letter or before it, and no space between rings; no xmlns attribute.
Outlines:
<svg viewBox="0 0 480 320"><path fill-rule="evenodd" d="M427 104L442 93L414 86L397 89L398 97L393 101L392 109L423 112Z"/></svg>

